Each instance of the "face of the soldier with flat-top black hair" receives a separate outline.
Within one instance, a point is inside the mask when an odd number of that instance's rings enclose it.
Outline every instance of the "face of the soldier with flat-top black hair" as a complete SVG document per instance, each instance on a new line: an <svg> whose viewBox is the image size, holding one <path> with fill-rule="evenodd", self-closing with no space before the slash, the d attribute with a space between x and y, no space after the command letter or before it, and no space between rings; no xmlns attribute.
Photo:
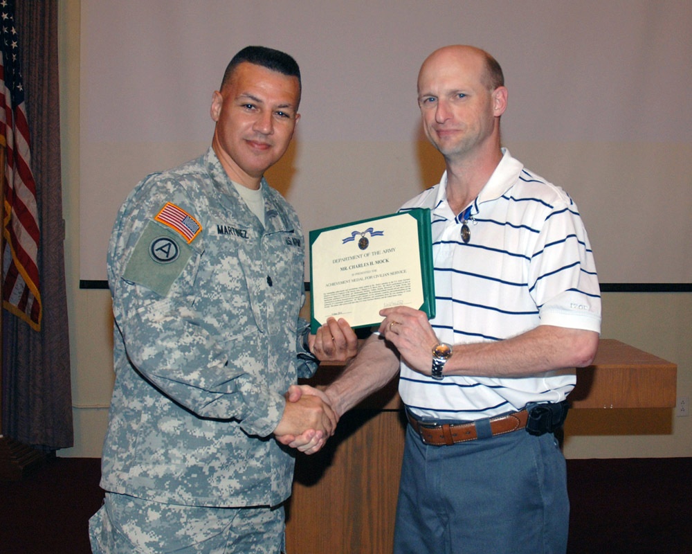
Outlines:
<svg viewBox="0 0 692 554"><path fill-rule="evenodd" d="M212 98L214 149L231 179L256 184L289 148L298 122L298 78L243 62ZM254 187L253 187L254 188Z"/></svg>

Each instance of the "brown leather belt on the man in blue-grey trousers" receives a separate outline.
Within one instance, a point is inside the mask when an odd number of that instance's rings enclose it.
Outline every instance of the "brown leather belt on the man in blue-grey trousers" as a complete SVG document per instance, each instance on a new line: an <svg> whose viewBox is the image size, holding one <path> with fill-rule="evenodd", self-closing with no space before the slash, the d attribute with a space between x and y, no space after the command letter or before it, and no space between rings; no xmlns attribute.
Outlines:
<svg viewBox="0 0 692 554"><path fill-rule="evenodd" d="M406 415L411 427L419 434L421 440L426 445L449 446L456 443L466 443L468 440L475 440L478 438L475 422L435 425L435 423L422 422L415 419L408 410L406 411ZM526 410L490 418L491 434L493 436L504 435L512 431L518 431L518 429L524 429L528 418L529 413Z"/></svg>

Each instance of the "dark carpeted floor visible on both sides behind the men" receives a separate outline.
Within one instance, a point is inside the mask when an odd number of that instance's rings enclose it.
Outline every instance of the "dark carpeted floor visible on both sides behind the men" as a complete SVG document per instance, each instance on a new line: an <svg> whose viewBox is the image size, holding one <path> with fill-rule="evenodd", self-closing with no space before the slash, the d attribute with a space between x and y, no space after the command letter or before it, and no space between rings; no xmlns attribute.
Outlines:
<svg viewBox="0 0 692 554"><path fill-rule="evenodd" d="M568 460L567 474L569 553L692 553L692 458ZM99 476L98 459L52 458L0 481L0 554L89 554Z"/></svg>

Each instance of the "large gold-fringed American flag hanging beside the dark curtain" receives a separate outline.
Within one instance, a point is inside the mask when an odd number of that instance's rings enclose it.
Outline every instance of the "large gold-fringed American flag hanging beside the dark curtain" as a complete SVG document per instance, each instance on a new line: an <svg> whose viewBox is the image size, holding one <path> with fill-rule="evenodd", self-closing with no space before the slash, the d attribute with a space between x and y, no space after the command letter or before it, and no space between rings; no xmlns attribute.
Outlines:
<svg viewBox="0 0 692 554"><path fill-rule="evenodd" d="M38 331L42 314L37 265L39 222L17 58L14 0L0 0L0 18L0 145L5 147L2 303Z"/></svg>

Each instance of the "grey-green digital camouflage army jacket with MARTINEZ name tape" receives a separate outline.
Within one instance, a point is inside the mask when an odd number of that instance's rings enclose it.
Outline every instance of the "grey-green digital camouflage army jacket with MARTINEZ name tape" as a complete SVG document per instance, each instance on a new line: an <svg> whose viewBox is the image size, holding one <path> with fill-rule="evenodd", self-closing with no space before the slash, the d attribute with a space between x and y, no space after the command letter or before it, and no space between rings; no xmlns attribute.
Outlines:
<svg viewBox="0 0 692 554"><path fill-rule="evenodd" d="M111 235L114 363L104 490L187 506L276 506L293 456L283 393L316 361L298 317L304 242L262 180L266 229L210 149L150 175Z"/></svg>

